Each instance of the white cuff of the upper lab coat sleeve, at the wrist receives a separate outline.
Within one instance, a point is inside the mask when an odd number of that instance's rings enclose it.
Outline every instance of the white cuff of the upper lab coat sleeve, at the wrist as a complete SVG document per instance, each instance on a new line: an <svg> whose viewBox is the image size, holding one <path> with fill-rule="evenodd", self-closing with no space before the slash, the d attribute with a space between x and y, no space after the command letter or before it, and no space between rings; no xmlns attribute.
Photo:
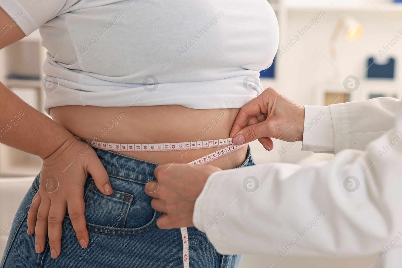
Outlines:
<svg viewBox="0 0 402 268"><path fill-rule="evenodd" d="M301 149L315 153L334 152L334 129L329 106L304 106Z"/></svg>

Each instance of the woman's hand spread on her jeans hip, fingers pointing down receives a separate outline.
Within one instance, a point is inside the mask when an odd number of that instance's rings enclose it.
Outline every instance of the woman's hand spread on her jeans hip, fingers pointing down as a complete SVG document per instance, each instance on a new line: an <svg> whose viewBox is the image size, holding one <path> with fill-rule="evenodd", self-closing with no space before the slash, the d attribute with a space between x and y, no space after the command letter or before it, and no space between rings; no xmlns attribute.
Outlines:
<svg viewBox="0 0 402 268"><path fill-rule="evenodd" d="M84 185L88 173L100 192L107 195L113 193L109 176L94 149L75 137L43 159L39 190L28 212L28 235L35 233L37 253L45 249L47 234L51 257L60 255L66 209L81 247L88 245L84 217Z"/></svg>

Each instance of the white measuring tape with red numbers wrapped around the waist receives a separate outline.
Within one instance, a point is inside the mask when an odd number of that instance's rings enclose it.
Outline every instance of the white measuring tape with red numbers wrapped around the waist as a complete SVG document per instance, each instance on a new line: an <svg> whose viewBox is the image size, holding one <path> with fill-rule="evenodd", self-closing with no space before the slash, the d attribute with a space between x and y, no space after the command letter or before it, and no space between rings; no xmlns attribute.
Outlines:
<svg viewBox="0 0 402 268"><path fill-rule="evenodd" d="M100 141L90 141L88 139L82 139L77 137L80 141L84 141L91 145L92 147L103 149L103 150L111 150L111 151L185 151L192 149L205 149L205 148L213 148L213 147L222 147L226 146L222 149L219 149L209 155L205 155L197 160L194 160L189 165L203 165L211 162L213 160L217 160L224 155L232 153L237 149L240 149L246 144L243 145L234 145L232 144L232 138L228 139L213 139L209 141L189 141L189 142L175 142L175 143L107 143ZM181 238L183 240L183 266L184 268L189 268L189 235L187 232L187 227L181 227Z"/></svg>

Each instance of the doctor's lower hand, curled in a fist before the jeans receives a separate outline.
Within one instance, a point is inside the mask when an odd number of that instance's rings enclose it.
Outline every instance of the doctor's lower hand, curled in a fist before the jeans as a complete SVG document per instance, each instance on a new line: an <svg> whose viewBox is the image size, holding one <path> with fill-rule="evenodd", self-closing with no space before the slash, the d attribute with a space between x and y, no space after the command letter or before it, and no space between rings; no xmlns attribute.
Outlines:
<svg viewBox="0 0 402 268"><path fill-rule="evenodd" d="M145 185L145 192L153 197L152 207L163 215L156 221L160 229L194 226L195 200L208 177L220 168L210 165L164 164L157 166L157 180Z"/></svg>

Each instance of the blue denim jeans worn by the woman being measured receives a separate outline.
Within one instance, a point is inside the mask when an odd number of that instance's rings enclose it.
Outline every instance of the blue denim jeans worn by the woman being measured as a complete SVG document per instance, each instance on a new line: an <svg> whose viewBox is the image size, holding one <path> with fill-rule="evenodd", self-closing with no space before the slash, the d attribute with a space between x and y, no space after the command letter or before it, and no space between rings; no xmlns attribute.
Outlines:
<svg viewBox="0 0 402 268"><path fill-rule="evenodd" d="M39 188L39 174L25 195L10 230L0 268L102 268L102 267L183 267L183 242L180 229L162 230L156 220L162 213L151 207L145 194L146 182L155 180L157 164L94 148L105 166L114 193L104 195L92 177L84 189L85 218L89 233L87 248L81 248L68 213L63 221L62 251L50 256L45 250L35 253L35 235L27 235L27 214ZM250 147L239 166L255 165ZM235 268L242 255L220 255L205 233L188 228L191 268Z"/></svg>

